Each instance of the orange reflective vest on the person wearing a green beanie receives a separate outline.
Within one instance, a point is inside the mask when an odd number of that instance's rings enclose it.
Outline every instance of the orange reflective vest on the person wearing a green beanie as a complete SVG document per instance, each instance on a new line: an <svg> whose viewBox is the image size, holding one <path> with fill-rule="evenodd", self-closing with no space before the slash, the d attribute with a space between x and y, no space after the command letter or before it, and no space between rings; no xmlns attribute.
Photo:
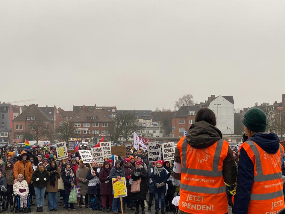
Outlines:
<svg viewBox="0 0 285 214"><path fill-rule="evenodd" d="M251 188L248 213L275 214L284 208L281 160L284 151L280 144L275 154L264 151L253 141L246 141L243 148L254 164L254 182Z"/></svg>

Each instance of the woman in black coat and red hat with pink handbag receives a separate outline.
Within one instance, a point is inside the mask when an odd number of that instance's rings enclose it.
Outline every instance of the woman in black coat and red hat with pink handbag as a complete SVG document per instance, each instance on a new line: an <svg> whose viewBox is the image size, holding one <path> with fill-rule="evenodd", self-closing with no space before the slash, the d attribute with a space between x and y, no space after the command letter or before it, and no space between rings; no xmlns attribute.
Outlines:
<svg viewBox="0 0 285 214"><path fill-rule="evenodd" d="M146 201L146 193L148 191L148 183L147 183L148 173L146 169L143 167L142 162L136 162L136 168L131 174L131 178L134 181L140 180L140 192L132 193L131 199L135 200L136 203L136 212L135 214L140 213L139 207L142 207L142 214L145 214L145 201Z"/></svg>

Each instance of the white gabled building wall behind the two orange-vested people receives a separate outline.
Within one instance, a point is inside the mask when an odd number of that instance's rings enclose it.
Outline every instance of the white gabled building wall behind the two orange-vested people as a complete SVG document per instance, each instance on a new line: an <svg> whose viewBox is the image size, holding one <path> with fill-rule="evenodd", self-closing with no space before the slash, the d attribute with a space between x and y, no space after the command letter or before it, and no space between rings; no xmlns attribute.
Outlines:
<svg viewBox="0 0 285 214"><path fill-rule="evenodd" d="M216 114L217 124L222 134L234 134L234 98L218 96L211 101L209 107Z"/></svg>

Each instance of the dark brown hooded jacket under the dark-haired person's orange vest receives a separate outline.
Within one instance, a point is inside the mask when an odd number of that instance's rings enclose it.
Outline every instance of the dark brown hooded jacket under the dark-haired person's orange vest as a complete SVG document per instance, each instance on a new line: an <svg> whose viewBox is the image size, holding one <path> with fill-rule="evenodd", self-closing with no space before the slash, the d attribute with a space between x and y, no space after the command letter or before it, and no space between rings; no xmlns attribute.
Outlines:
<svg viewBox="0 0 285 214"><path fill-rule="evenodd" d="M202 120L192 124L185 138L191 147L202 149L210 147L222 137L222 132L216 126L213 126ZM178 149L175 151L174 161L178 164L181 164L181 158ZM175 172L172 172L172 176L178 180L181 178L181 174ZM234 184L237 177L237 168L230 146L228 147L228 154L223 162L223 177L225 183L230 185Z"/></svg>

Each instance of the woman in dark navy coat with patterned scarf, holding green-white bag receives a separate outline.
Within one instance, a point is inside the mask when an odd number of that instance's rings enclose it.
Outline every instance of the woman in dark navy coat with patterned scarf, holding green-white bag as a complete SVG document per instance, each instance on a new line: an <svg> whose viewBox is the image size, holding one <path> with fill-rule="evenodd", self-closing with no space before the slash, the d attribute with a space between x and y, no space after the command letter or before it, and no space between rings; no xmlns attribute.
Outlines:
<svg viewBox="0 0 285 214"><path fill-rule="evenodd" d="M68 199L69 199L69 193L70 188L74 187L75 185L75 174L73 171L73 168L71 164L68 162L64 165L64 167L61 169L62 174L62 180L64 183L64 204L65 204L65 211L68 211ZM72 203L69 203L71 210L76 210L73 207Z"/></svg>

